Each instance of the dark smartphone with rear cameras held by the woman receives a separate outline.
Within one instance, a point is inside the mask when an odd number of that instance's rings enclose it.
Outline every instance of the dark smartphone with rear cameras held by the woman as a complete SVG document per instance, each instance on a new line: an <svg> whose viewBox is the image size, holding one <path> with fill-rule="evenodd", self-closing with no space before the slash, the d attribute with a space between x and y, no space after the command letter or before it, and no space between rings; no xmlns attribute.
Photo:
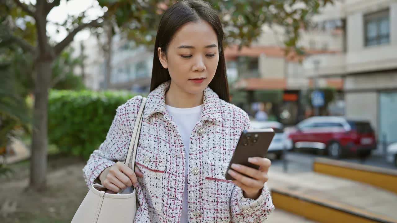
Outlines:
<svg viewBox="0 0 397 223"><path fill-rule="evenodd" d="M234 180L234 178L227 173L231 164L241 164L254 169L259 169L258 165L248 162L250 157L265 158L268 153L268 148L273 140L275 133L272 128L268 129L247 129L241 133L237 147L234 150L233 156L229 162L225 173L225 179ZM245 175L245 174L243 174ZM247 175L245 175L247 176ZM248 176L247 176L248 177Z"/></svg>

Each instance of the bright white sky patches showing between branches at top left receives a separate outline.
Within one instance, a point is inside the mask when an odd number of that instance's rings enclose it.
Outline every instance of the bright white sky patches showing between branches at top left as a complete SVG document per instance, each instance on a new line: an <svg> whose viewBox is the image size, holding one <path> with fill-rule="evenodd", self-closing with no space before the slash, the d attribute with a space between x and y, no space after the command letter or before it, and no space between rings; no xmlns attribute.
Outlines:
<svg viewBox="0 0 397 223"><path fill-rule="evenodd" d="M36 0L21 0L21 2L36 4ZM61 0L60 6L55 7L47 16L47 20L50 22L63 23L67 19L67 15L79 15L81 12L86 12L88 18L91 20L97 19L103 15L103 10L99 6L96 0ZM85 22L89 22L85 21ZM51 23L47 24L47 33L50 38L56 42L62 41L66 35L66 29L60 29L60 33L56 33L57 26ZM89 37L90 31L84 30L77 33L74 40L85 40Z"/></svg>

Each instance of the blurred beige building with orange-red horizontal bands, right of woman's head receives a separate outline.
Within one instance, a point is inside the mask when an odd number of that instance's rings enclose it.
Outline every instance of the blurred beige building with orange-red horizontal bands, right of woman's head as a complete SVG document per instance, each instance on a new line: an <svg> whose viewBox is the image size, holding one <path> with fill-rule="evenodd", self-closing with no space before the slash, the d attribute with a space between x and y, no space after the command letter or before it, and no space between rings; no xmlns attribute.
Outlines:
<svg viewBox="0 0 397 223"><path fill-rule="evenodd" d="M339 15L340 2L327 5L312 20L312 27L301 30L298 45L305 55L291 52L285 55L285 30L283 27L264 25L262 35L250 47L238 50L237 46L225 49L228 64L238 67L238 80L234 88L246 90L248 102L266 102L269 98L255 98L258 91L281 91L281 103L273 112L279 121L295 125L305 117L305 94L308 89L332 87L341 90L340 77L322 77L312 80L304 69L310 55L336 55L344 49L343 20Z"/></svg>

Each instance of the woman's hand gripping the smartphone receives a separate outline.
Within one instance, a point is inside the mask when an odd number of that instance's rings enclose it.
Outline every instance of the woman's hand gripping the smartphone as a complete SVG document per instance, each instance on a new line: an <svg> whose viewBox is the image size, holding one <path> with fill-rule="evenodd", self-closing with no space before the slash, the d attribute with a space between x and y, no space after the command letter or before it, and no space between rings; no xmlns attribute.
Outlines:
<svg viewBox="0 0 397 223"><path fill-rule="evenodd" d="M256 200L260 196L264 184L269 179L268 170L272 162L269 159L262 157L252 157L249 158L248 161L252 164L258 165L259 169L233 163L231 168L234 171L230 169L228 173L235 179L233 180L233 183L244 191L243 195L245 198ZM249 177L241 175L240 173Z"/></svg>

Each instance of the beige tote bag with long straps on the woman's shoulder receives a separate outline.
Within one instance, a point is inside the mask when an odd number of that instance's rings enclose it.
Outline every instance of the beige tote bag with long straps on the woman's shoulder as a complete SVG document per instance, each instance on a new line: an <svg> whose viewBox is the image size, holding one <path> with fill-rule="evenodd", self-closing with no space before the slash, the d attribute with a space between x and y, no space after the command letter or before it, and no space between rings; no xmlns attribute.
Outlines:
<svg viewBox="0 0 397 223"><path fill-rule="evenodd" d="M125 159L125 165L128 165L131 169L135 168L135 156L145 103L146 98L143 98ZM133 154L133 157L130 162L131 154ZM118 194L108 194L105 193L105 190L107 189L104 186L93 184L83 202L81 202L79 209L77 209L71 223L133 223L137 212L137 191L135 188L129 187Z"/></svg>

